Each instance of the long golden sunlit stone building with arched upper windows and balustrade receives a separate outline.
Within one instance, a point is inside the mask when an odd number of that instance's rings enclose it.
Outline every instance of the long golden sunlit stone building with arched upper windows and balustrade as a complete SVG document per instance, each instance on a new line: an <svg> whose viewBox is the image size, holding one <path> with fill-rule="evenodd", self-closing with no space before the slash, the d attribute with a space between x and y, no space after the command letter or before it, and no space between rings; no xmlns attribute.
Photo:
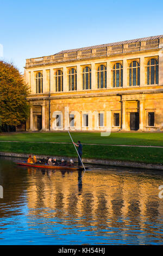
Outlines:
<svg viewBox="0 0 163 256"><path fill-rule="evenodd" d="M163 129L163 35L26 60L27 130Z"/></svg>

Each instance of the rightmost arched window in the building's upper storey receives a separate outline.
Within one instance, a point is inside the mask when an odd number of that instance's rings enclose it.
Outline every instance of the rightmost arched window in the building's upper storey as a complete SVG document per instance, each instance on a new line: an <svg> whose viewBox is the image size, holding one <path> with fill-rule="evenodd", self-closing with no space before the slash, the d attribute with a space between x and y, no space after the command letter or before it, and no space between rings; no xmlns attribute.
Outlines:
<svg viewBox="0 0 163 256"><path fill-rule="evenodd" d="M159 64L156 59L149 59L147 63L147 84L159 83Z"/></svg>

